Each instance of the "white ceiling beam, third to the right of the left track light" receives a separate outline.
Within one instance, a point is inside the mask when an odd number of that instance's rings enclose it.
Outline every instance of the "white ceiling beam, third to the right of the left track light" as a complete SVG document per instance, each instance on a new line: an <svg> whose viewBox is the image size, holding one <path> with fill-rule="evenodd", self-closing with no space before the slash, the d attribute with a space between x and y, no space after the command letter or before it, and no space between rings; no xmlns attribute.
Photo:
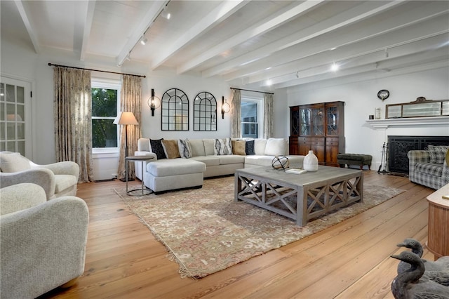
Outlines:
<svg viewBox="0 0 449 299"><path fill-rule="evenodd" d="M290 36L286 36L279 41L275 41L272 44L267 44L266 46L258 48L255 51L251 51L250 53L241 55L238 58L234 58L232 60L224 62L221 65L206 69L201 74L203 75L203 77L212 77L216 74L229 71L229 69L232 69L234 67L238 68L248 61L254 61L260 58L267 57L268 55L275 53L276 51L281 51L285 48L300 44L304 41L313 39L314 37L320 36L322 34L326 34L340 27L344 27L354 22L369 18L372 15L381 13L382 11L386 11L393 6L401 4L401 1L394 1L382 6L379 6L380 3L381 2L378 1L364 2L363 4L355 6L354 8L344 11L343 13L328 18L327 20L323 20L316 25L312 25L301 30L300 32L291 34Z"/></svg>

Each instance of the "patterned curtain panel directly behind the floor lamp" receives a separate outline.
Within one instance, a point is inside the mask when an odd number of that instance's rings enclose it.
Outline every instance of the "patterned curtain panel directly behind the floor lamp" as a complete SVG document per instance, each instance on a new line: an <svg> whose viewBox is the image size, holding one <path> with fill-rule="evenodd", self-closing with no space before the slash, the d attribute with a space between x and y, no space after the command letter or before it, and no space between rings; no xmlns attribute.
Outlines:
<svg viewBox="0 0 449 299"><path fill-rule="evenodd" d="M138 76L123 75L121 79L120 111L133 112L140 124L142 111L142 81ZM121 125L120 130L120 158L117 171L119 179L126 178L125 169L125 129L128 131L128 155L134 156L138 150L138 139L141 136L140 125ZM128 163L128 178L135 178L134 163Z"/></svg>

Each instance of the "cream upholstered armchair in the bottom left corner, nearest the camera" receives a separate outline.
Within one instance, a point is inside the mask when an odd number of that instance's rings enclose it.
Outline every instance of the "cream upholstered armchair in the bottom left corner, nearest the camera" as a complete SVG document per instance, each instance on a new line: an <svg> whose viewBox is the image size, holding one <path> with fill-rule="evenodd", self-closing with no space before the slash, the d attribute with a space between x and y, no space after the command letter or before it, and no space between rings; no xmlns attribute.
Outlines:
<svg viewBox="0 0 449 299"><path fill-rule="evenodd" d="M42 187L0 189L0 296L36 298L84 272L88 207L78 197L46 199Z"/></svg>

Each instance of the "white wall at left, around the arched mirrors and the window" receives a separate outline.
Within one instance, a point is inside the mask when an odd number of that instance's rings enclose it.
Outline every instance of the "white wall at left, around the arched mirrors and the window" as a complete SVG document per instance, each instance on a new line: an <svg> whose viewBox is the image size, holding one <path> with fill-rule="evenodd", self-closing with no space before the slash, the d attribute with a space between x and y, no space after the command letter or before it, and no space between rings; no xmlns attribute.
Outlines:
<svg viewBox="0 0 449 299"><path fill-rule="evenodd" d="M230 103L232 91L222 80L204 79L201 76L177 75L172 70L152 72L148 65L139 62L127 62L119 69L110 58L87 57L81 62L73 53L41 49L43 54L36 54L27 44L21 41L1 39L1 76L31 81L34 86L32 98L32 157L37 164L55 162L55 135L53 123L53 67L48 62L73 67L88 67L112 72L129 74L145 74L142 78L142 136L147 138L221 138L231 134L230 115L217 117L217 131L193 131L193 99L201 91L208 91L217 99L217 110L221 110L222 96ZM119 75L93 72L93 77L120 79ZM147 105L151 88L159 98L169 88L180 88L189 97L189 131L161 131L161 109L156 110L154 117ZM111 178L118 165L118 154L98 154L94 161L95 180ZM116 171L115 171L116 173Z"/></svg>

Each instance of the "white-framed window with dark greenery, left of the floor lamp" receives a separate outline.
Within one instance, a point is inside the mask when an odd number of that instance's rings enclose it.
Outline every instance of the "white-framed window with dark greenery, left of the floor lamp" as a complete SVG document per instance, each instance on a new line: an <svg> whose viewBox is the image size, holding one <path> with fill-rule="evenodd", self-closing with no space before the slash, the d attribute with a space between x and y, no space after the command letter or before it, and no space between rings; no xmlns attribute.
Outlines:
<svg viewBox="0 0 449 299"><path fill-rule="evenodd" d="M120 104L120 84L92 82L92 147L117 149L119 126L113 124Z"/></svg>

